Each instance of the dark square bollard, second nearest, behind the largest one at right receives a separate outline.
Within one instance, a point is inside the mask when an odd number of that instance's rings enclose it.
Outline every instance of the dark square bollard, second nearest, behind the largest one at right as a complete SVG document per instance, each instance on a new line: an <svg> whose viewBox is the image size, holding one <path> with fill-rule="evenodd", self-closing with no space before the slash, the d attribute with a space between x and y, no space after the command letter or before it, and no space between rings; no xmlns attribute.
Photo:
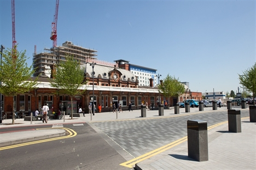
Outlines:
<svg viewBox="0 0 256 170"><path fill-rule="evenodd" d="M230 132L241 132L241 112L228 110L228 124Z"/></svg>

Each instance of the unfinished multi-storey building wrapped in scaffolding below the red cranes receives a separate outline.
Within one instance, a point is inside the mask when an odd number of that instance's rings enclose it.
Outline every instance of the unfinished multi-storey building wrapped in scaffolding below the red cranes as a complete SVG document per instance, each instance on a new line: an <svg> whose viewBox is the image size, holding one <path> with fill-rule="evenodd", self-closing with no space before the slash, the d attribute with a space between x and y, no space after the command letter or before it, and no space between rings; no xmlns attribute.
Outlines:
<svg viewBox="0 0 256 170"><path fill-rule="evenodd" d="M92 62L96 60L96 50L80 47L74 45L71 41L66 41L62 46L53 47L50 49L44 49L44 52L33 54L33 68L35 70L33 76L49 77L50 65L59 64L61 61L65 61L65 56L73 56L80 64L86 62ZM97 60L98 61L98 60ZM107 64L109 65L109 64Z"/></svg>

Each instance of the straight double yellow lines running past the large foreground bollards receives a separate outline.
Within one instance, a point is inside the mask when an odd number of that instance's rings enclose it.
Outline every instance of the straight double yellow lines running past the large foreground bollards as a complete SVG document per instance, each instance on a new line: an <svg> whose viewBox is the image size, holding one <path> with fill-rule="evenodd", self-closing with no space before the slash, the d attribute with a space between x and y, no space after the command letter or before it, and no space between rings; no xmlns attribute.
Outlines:
<svg viewBox="0 0 256 170"><path fill-rule="evenodd" d="M245 117L245 118L241 118L241 119L248 119L249 117ZM210 129L213 129L214 127L217 127L219 125L222 125L222 124L225 124L225 123L228 123L228 121L225 121L225 122L221 122L221 123L218 123L218 124L215 124L215 125L212 125L212 126L209 126L207 128L207 130L210 130ZM160 154L168 149L171 149L173 147L175 147L176 145L178 144L181 144L185 141L188 140L188 136L185 136L183 138L180 138L178 139L177 141L174 141L172 143L169 143L167 145L164 145L163 147L160 147L158 149L155 149L153 151L150 151L149 153L146 153L144 155L141 155L141 156L138 156L138 157L135 157L134 159L130 160L130 161L126 161L124 163L120 163L121 166L125 166L125 167L128 167L128 168L133 168L133 166L138 163L138 162L141 162L143 160L146 160L146 159L149 159L150 157L154 156L154 155L157 155L157 154Z"/></svg>

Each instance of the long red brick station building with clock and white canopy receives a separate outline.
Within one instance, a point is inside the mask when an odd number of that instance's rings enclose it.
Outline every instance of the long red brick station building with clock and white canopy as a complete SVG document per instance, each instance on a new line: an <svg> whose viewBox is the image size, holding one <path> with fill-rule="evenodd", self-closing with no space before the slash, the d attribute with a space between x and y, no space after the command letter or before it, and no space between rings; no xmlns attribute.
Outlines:
<svg viewBox="0 0 256 170"><path fill-rule="evenodd" d="M83 108L85 113L88 113L88 105L93 102L97 108L98 104L102 105L102 112L112 112L112 104L115 106L122 105L122 110L128 110L129 102L132 104L132 110L141 108L141 103L148 102L149 108L151 104L158 107L160 102L162 105L167 101L170 106L173 106L178 101L185 99L202 100L201 92L191 92L186 85L186 92L179 98L171 98L170 101L159 94L158 87L154 87L153 79L150 79L149 86L138 86L138 77L133 75L128 70L127 66L118 65L106 66L96 64L94 71L90 63L81 65L85 69L85 81L81 89L86 89L83 95L74 95L73 97L73 113L78 113L79 106ZM51 70L55 69L55 65L51 66ZM92 77L94 75L94 77ZM65 111L66 114L71 113L71 98L66 94L59 94L58 89L50 86L49 79L39 77L39 84L34 90L30 90L25 94L15 96L14 108L16 111L21 111L26 114L36 111L37 108L42 108L44 102L48 103L50 112L57 112L59 109ZM92 84L94 83L94 86ZM160 80L161 83L161 80ZM94 89L94 90L93 90ZM13 97L2 95L2 110L3 114L7 113L7 118L10 118L10 113L13 110ZM96 113L98 110L96 110Z"/></svg>

